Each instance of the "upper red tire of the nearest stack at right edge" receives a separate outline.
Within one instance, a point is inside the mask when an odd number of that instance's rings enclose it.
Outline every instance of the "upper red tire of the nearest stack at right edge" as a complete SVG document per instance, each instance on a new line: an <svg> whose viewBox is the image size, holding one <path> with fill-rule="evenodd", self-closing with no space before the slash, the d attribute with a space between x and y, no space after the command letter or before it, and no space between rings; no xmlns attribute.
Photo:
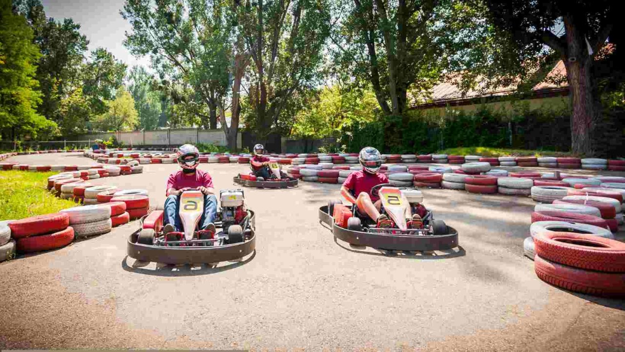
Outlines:
<svg viewBox="0 0 625 352"><path fill-rule="evenodd" d="M534 236L541 258L575 268L625 272L625 243L591 234L545 231Z"/></svg>

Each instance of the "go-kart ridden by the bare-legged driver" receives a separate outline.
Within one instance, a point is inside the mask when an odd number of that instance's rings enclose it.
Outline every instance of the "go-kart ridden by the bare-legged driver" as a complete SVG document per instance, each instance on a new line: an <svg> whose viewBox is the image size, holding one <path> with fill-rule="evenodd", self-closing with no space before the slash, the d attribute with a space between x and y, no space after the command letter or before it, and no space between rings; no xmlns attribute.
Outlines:
<svg viewBox="0 0 625 352"><path fill-rule="evenodd" d="M381 213L392 221L391 228L378 228L356 205L344 205L340 200L328 201L327 206L319 208L319 221L331 226L334 237L356 246L396 251L436 251L458 246L457 231L434 219L432 211L421 204L421 191L378 184L371 188L371 194L376 193L381 199ZM412 208L412 214L421 214L422 224L406 223L406 207Z"/></svg>

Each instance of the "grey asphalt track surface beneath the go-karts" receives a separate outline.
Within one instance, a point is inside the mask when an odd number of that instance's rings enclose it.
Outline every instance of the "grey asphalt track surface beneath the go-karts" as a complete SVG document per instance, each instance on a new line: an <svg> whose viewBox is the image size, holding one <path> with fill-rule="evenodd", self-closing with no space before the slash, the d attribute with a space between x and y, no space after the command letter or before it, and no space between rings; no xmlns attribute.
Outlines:
<svg viewBox="0 0 625 352"><path fill-rule="evenodd" d="M94 163L74 153L9 160ZM200 168L211 173L216 189L237 188L232 176L248 169ZM144 165L143 174L93 183L146 188L157 206L176 169ZM625 301L546 284L522 256L531 199L445 189L423 193L435 217L459 231L455 251L354 251L317 221L317 209L338 198L339 185L301 182L296 189L245 189L257 214L257 242L256 253L242 263L135 263L126 257L126 238L138 228L136 221L0 263L0 348L625 349ZM623 241L625 231L617 239Z"/></svg>

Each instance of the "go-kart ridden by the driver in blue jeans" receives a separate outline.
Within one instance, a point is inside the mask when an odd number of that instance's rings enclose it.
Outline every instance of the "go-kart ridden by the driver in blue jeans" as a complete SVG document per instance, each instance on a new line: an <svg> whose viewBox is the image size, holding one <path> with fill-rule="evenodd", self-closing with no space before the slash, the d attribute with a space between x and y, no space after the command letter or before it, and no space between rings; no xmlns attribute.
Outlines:
<svg viewBox="0 0 625 352"><path fill-rule="evenodd" d="M163 234L163 211L141 218L141 227L128 238L128 256L163 264L216 264L237 261L256 248L254 212L246 209L242 189L219 191L221 209L216 233L198 229L204 211L204 194L187 190L180 195L183 231Z"/></svg>

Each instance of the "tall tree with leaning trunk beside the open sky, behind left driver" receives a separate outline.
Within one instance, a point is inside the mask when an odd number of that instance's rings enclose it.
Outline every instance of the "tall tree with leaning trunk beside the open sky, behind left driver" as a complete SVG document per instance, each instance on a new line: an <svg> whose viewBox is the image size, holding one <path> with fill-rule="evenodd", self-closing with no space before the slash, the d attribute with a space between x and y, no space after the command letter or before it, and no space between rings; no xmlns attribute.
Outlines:
<svg viewBox="0 0 625 352"><path fill-rule="evenodd" d="M152 66L166 81L191 86L185 94L197 106L202 128L217 128L217 113L225 121L226 109L237 110L239 92L236 73L244 72L245 60L236 59L236 19L227 0L126 0L122 15L133 26L124 45L136 55L149 54ZM234 23L234 24L233 24ZM234 53L234 54L233 54ZM242 73L241 73L242 74ZM234 76L234 89L231 86ZM239 79L240 81L240 79ZM226 104L231 100L234 104ZM238 114L238 112L237 112ZM237 115L238 116L238 115ZM222 123L229 148L236 149L238 119ZM232 137L234 136L234 138Z"/></svg>

